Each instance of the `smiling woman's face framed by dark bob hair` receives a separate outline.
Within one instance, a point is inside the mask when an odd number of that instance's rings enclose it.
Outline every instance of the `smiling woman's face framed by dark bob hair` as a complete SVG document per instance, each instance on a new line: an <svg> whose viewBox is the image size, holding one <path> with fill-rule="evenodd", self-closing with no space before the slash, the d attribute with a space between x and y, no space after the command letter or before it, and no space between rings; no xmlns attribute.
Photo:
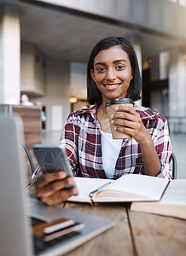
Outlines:
<svg viewBox="0 0 186 256"><path fill-rule="evenodd" d="M132 79L129 56L119 45L103 49L96 55L90 74L102 93L102 102L126 97Z"/></svg>

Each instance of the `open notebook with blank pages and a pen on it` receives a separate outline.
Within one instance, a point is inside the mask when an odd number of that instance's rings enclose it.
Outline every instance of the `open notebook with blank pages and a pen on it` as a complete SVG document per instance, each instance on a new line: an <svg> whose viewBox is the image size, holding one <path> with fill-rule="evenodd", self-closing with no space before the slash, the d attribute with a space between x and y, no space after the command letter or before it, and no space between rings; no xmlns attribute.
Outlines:
<svg viewBox="0 0 186 256"><path fill-rule="evenodd" d="M126 174L117 180L75 177L78 195L68 201L104 202L160 201L170 181L166 178Z"/></svg>

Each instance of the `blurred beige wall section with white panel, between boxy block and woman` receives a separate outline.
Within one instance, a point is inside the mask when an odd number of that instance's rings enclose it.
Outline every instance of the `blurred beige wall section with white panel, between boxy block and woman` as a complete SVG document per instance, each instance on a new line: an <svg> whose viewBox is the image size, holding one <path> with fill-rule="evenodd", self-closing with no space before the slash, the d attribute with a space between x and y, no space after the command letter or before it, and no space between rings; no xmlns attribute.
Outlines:
<svg viewBox="0 0 186 256"><path fill-rule="evenodd" d="M46 94L34 102L46 107L46 131L62 131L70 113L69 71L67 61L46 61Z"/></svg>

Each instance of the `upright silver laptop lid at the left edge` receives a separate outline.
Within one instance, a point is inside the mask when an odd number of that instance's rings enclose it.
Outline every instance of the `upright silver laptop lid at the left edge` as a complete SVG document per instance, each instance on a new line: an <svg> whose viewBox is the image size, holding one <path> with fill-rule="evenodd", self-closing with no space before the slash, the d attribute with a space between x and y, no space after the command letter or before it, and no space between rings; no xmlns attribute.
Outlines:
<svg viewBox="0 0 186 256"><path fill-rule="evenodd" d="M21 119L0 116L0 248L2 255L32 255L31 239L26 232L24 156ZM17 236L19 234L19 236ZM21 245L21 246L17 246Z"/></svg>

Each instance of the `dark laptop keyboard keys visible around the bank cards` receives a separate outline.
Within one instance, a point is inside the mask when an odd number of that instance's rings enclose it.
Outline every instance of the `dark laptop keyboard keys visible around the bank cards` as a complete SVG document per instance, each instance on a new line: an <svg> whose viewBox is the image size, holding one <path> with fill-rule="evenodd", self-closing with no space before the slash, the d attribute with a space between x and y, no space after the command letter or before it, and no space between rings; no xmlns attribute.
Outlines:
<svg viewBox="0 0 186 256"><path fill-rule="evenodd" d="M42 223L44 223L43 220L38 218L32 218L32 225L42 224ZM77 236L78 234L79 234L78 231L73 231L71 233L68 233L67 235L57 237L51 241L44 241L43 239L37 236L33 236L34 254L38 255L39 253L42 253L45 250L47 250L49 247L57 245L59 242L65 241L72 236Z"/></svg>

